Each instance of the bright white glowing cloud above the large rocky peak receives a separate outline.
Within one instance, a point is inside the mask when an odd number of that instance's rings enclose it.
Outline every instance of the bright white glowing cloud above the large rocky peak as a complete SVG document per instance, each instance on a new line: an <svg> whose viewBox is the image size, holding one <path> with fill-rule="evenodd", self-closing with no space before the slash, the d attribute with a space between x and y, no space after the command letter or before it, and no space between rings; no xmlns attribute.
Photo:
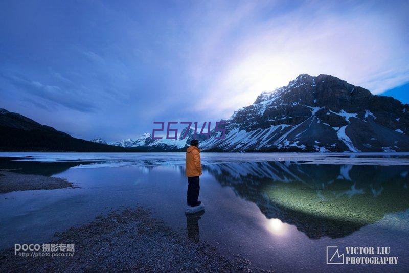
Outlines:
<svg viewBox="0 0 409 273"><path fill-rule="evenodd" d="M238 36L230 41L223 40L219 31L207 36L202 48L205 58L212 61L207 66L199 62L198 68L195 60L191 69L195 84L206 86L196 107L230 112L230 116L253 103L263 90L287 85L302 73L330 74L373 94L409 81L407 34L396 27L402 18L391 18L395 11L382 13L370 5L341 9L315 4L300 5L266 20L241 18L222 28L224 36ZM251 12L252 18L265 17L263 9ZM226 16L236 18L237 14ZM225 44L213 46L221 39ZM223 50L226 45L229 51Z"/></svg>

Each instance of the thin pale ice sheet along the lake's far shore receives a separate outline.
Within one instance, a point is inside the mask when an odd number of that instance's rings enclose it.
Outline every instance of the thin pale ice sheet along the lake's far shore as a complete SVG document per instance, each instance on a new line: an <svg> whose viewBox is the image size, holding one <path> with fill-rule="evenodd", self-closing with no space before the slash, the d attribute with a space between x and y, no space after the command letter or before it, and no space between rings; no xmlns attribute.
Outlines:
<svg viewBox="0 0 409 273"><path fill-rule="evenodd" d="M185 153L0 153L19 161L82 162L73 168L103 168L129 165L184 165ZM226 162L290 161L300 164L409 165L409 153L201 153L202 164Z"/></svg>

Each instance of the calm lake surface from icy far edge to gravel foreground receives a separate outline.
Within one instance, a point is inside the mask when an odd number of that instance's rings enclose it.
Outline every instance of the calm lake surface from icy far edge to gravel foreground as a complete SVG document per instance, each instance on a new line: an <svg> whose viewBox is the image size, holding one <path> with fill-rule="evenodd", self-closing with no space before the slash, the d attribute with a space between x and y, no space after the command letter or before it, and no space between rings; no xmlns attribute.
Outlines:
<svg viewBox="0 0 409 273"><path fill-rule="evenodd" d="M286 271L406 271L409 154L203 153L203 214L186 217L184 153L0 153L1 169L80 188L0 194L0 248L43 243L112 209L150 208L228 256ZM24 158L25 156L32 156ZM398 265L327 265L326 247L385 246Z"/></svg>

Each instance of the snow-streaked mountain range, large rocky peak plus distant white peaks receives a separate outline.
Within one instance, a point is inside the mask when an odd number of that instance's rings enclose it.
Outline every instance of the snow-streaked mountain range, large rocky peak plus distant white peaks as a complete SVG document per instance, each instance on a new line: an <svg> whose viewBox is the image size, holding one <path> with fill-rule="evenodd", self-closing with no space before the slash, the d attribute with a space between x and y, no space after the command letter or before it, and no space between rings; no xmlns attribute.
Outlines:
<svg viewBox="0 0 409 273"><path fill-rule="evenodd" d="M226 137L200 135L207 151L394 152L409 151L409 105L354 86L330 75L301 74L287 86L263 92L226 121ZM110 143L148 150L180 150L192 139L137 140ZM101 139L93 140L105 143Z"/></svg>

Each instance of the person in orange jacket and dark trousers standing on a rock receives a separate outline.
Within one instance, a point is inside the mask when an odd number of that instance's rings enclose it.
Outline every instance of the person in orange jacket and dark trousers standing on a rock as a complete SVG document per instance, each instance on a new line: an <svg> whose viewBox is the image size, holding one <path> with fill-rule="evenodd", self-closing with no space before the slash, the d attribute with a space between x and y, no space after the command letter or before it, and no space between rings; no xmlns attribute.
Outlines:
<svg viewBox="0 0 409 273"><path fill-rule="evenodd" d="M199 141L192 140L186 150L186 176L188 177L188 206L196 207L201 204L199 200L199 176L202 174L200 163Z"/></svg>

